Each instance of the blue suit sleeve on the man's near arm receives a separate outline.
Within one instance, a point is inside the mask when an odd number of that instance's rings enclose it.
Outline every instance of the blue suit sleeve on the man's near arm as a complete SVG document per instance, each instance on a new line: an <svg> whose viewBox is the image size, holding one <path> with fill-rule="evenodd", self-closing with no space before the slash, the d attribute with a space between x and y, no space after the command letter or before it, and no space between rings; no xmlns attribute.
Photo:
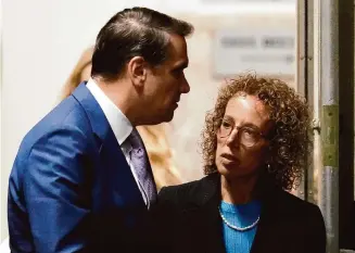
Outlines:
<svg viewBox="0 0 355 253"><path fill-rule="evenodd" d="M24 198L36 252L89 252L87 143L79 129L59 129L28 155Z"/></svg>

